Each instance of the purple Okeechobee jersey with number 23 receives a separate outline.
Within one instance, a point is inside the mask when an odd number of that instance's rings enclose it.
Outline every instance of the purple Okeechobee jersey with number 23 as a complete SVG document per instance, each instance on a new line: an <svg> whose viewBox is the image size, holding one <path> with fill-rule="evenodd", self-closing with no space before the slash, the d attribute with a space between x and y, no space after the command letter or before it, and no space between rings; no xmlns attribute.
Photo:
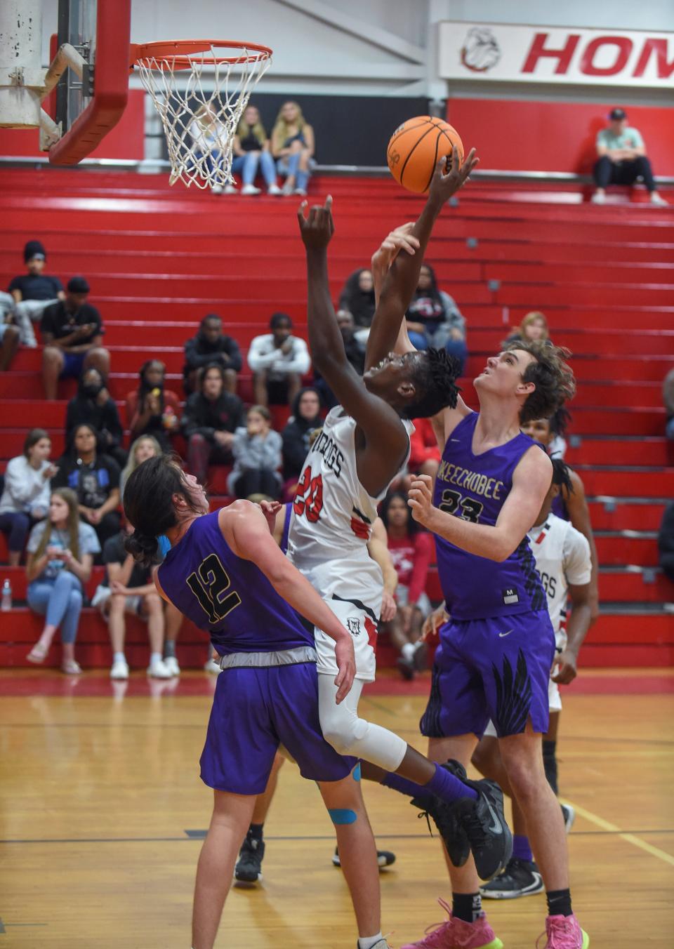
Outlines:
<svg viewBox="0 0 674 949"><path fill-rule="evenodd" d="M444 446L433 503L475 524L495 525L513 487L520 458L534 440L518 435L481 455L473 454L477 412L459 421ZM529 538L503 563L467 553L436 535L440 586L454 620L477 620L545 609Z"/></svg>

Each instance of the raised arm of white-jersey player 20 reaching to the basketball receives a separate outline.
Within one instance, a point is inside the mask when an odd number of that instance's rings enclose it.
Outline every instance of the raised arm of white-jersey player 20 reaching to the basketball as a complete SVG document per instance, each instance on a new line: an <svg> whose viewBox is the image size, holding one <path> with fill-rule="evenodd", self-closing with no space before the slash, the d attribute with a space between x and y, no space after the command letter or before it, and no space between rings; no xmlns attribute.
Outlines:
<svg viewBox="0 0 674 949"><path fill-rule="evenodd" d="M375 310L372 326L370 326L365 351L365 369L376 365L384 356L395 349L396 352L409 352L414 346L409 342L404 326L406 313L414 291L419 284L419 274L423 256L426 252L429 238L433 231L440 211L449 198L459 191L473 169L477 166L478 158L475 149L471 149L462 165L459 165L459 152L456 147L452 155L452 167L444 174L446 160L442 158L431 181L428 198L419 219L408 229L403 226L394 231L384 240L384 244L372 258L372 275L375 286L384 280L379 296L379 303ZM411 254L400 238L405 237L409 245L409 238L415 238L412 246L416 252ZM396 237L399 240L396 240ZM403 252L401 252L403 251Z"/></svg>

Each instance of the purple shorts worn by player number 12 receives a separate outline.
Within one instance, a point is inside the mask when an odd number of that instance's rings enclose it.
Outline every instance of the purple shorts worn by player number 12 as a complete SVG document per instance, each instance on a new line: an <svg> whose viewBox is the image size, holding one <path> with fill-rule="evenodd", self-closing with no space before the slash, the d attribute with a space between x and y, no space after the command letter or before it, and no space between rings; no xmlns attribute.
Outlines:
<svg viewBox="0 0 674 949"><path fill-rule="evenodd" d="M279 744L311 781L341 781L357 759L328 745L318 719L314 662L224 669L201 753L201 780L215 791L261 794Z"/></svg>

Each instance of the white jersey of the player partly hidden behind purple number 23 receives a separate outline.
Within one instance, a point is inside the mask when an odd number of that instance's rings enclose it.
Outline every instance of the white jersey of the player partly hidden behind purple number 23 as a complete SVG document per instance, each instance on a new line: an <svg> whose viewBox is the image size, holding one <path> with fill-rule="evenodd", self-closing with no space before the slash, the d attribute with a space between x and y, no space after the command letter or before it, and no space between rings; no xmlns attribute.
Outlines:
<svg viewBox="0 0 674 949"><path fill-rule="evenodd" d="M592 564L587 538L569 521L550 513L545 524L529 531L536 570L548 595L548 611L562 651L567 644L569 585L590 583Z"/></svg>

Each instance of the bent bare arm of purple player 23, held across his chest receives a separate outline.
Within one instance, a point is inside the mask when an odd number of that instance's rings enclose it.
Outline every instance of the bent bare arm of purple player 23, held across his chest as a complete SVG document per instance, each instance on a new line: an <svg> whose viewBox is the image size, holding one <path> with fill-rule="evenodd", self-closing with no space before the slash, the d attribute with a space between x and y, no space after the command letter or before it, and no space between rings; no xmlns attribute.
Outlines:
<svg viewBox="0 0 674 949"><path fill-rule="evenodd" d="M502 563L534 524L551 479L552 461L539 446L533 445L515 468L513 488L495 525L473 524L434 507L433 480L428 474L419 474L412 482L408 503L412 516L428 530L467 553Z"/></svg>

